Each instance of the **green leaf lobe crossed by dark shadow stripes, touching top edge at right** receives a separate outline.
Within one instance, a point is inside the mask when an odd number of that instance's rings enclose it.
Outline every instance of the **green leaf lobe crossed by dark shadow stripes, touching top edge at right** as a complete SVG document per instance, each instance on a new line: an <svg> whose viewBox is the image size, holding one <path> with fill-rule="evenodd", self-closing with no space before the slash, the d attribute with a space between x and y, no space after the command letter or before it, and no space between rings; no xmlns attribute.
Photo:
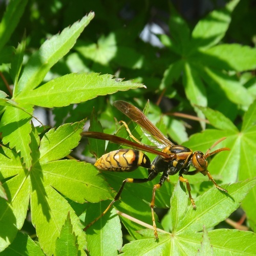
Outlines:
<svg viewBox="0 0 256 256"><path fill-rule="evenodd" d="M192 32L194 48L209 48L216 45L225 35L231 21L231 13L239 0L230 1L223 9L212 11L201 19Z"/></svg>

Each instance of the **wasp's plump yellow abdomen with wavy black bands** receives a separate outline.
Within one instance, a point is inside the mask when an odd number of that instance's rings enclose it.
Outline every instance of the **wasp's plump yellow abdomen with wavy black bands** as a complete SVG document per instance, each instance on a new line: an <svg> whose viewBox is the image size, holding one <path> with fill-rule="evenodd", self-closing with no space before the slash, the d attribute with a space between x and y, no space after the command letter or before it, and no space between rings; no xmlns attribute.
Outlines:
<svg viewBox="0 0 256 256"><path fill-rule="evenodd" d="M94 164L100 170L132 172L138 166L150 168L150 159L138 150L117 150L100 157Z"/></svg>

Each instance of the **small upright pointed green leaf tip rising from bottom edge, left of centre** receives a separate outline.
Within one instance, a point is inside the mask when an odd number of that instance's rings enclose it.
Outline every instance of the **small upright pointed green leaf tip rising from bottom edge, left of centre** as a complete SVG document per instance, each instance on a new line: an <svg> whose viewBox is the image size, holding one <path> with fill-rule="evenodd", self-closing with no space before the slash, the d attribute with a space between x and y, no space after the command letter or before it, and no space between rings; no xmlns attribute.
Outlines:
<svg viewBox="0 0 256 256"><path fill-rule="evenodd" d="M62 226L59 238L56 240L55 255L77 255L78 246L75 233L73 233L70 215Z"/></svg>

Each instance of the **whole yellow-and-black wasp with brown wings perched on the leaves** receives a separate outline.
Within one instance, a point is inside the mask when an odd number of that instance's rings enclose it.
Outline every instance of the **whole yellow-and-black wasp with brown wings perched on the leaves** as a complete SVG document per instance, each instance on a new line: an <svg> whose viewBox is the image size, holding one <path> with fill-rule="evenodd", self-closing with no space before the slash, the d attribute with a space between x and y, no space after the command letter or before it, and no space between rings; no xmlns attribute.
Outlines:
<svg viewBox="0 0 256 256"><path fill-rule="evenodd" d="M162 132L144 115L144 113L136 108L136 106L122 100L117 100L113 102L113 105L120 110L123 114L129 117L131 120L136 122L146 136L153 142L155 142L156 146L145 145L137 140L129 130L127 124L121 121L125 127L127 132L130 134L130 137L134 139L136 142L126 140L124 138L109 135L99 132L83 132L81 133L82 136L86 136L89 138L101 139L101 140L109 140L117 144L125 145L132 147L133 149L119 149L117 151L112 151L108 154L103 155L100 157L96 163L94 164L99 170L106 170L111 172L132 172L137 167L142 166L147 168L148 170L148 177L141 178L141 179L132 179L126 178L118 190L114 200L109 204L109 206L102 212L102 214L96 218L93 222L87 225L84 230L88 229L91 225L93 225L97 220L99 220L105 213L111 208L111 206L119 200L124 185L126 183L143 183L147 181L151 181L158 176L159 173L162 173L159 183L153 186L153 195L151 200L151 211L152 211L152 221L153 221L153 228L154 228L154 235L155 238L158 239L157 233L157 226L154 216L154 206L155 206L155 196L156 190L159 189L163 182L168 178L169 175L175 175L179 173L179 180L181 182L186 183L186 188L188 191L188 196L191 201L191 204L194 209L196 209L196 204L194 199L191 197L190 185L187 179L183 177L183 175L195 175L197 173L201 173L204 176L208 176L209 180L214 183L214 185L227 193L227 190L219 186L215 180L212 178L210 173L208 172L208 162L207 158L211 155L214 155L221 151L228 151L230 150L227 147L219 148L218 150L211 152L210 150L212 147L216 146L225 138L222 138L215 142L204 154L201 151L193 152L190 148L175 145L172 143L167 137L165 137ZM158 149L162 149L158 151ZM152 161L147 157L144 152L153 153L156 158ZM189 172L190 164L195 167L195 170Z"/></svg>

